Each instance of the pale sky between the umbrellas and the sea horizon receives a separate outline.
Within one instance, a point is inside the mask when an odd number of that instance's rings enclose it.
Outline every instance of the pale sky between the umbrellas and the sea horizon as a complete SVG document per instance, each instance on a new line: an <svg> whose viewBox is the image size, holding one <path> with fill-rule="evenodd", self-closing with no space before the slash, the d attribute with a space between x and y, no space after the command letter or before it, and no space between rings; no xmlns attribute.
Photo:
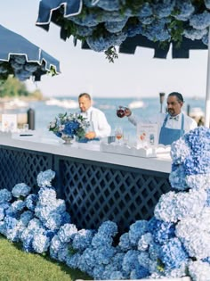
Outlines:
<svg viewBox="0 0 210 281"><path fill-rule="evenodd" d="M190 59L154 59L154 51L138 47L135 54L119 54L111 63L105 54L82 50L72 39L63 41L60 28L49 31L36 26L39 0L6 0L0 4L0 24L26 37L61 64L61 74L44 75L40 82L27 82L44 96L156 97L178 91L185 97L206 95L207 51L190 51Z"/></svg>

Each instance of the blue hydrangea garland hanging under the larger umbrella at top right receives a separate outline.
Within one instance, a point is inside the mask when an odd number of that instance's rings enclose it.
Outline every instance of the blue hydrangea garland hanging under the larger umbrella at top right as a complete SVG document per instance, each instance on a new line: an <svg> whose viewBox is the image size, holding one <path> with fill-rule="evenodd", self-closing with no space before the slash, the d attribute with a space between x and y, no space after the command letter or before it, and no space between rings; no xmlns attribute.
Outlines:
<svg viewBox="0 0 210 281"><path fill-rule="evenodd" d="M182 37L188 37L207 44L206 33L210 24L208 0L80 0L78 11L72 13L69 1L64 3L65 9L61 8L61 16L56 19L56 23L65 29L66 35L63 36L73 35L86 41L97 52L121 45L126 37L137 34L151 41L181 41ZM52 10L59 8L51 7ZM50 17L52 13L48 14ZM42 24L39 20L37 24ZM43 22L50 20L47 18Z"/></svg>

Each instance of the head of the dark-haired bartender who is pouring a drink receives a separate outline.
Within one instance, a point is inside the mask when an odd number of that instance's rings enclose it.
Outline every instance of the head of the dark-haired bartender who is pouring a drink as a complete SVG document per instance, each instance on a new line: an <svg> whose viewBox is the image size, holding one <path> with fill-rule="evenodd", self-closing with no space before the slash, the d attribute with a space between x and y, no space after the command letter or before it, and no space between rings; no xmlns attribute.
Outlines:
<svg viewBox="0 0 210 281"><path fill-rule="evenodd" d="M167 96L167 112L171 116L176 116L182 111L183 97L180 93L173 92Z"/></svg>

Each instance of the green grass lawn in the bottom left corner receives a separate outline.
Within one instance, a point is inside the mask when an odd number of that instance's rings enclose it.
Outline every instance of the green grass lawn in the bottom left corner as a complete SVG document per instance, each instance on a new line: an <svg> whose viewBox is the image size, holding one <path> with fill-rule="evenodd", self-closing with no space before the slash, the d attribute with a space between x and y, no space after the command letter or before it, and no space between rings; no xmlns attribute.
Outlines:
<svg viewBox="0 0 210 281"><path fill-rule="evenodd" d="M0 281L70 281L92 279L79 270L69 269L35 253L23 252L15 244L0 236Z"/></svg>

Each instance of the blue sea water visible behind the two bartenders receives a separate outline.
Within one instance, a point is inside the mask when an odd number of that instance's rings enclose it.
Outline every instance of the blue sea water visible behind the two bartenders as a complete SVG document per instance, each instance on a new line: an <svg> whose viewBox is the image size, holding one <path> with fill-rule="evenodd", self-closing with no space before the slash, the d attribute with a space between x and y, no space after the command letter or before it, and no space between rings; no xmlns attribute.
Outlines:
<svg viewBox="0 0 210 281"><path fill-rule="evenodd" d="M71 99L77 101L77 97L56 97L56 99ZM107 120L112 128L112 133L117 126L123 128L126 135L131 137L136 136L136 128L131 124L127 118L118 118L116 111L119 105L129 106L133 102L139 102L137 98L94 98L93 106L99 108L102 112L105 113ZM158 114L161 108L166 112L166 100L163 105L160 105L159 97L151 98L141 98L142 106L140 108L133 108L132 111L135 115L144 120L147 120L152 115ZM138 105L138 103L136 103ZM187 112L187 107L190 106L190 109L194 107L199 107L205 112L205 99L202 98L186 98L183 106L183 111ZM35 127L36 129L44 129L47 131L47 126L49 122L54 119L59 113L64 112L79 112L79 109L67 109L57 105L46 105L44 101L29 103L29 107L35 111Z"/></svg>

